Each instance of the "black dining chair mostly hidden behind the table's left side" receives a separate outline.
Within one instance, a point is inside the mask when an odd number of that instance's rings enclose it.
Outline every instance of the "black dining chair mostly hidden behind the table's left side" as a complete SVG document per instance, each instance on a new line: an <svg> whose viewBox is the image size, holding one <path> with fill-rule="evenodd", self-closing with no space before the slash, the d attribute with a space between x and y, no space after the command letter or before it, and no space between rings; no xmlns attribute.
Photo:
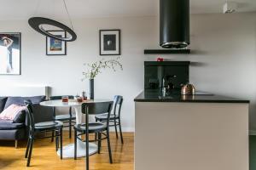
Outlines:
<svg viewBox="0 0 256 170"><path fill-rule="evenodd" d="M67 95L68 96L68 95ZM55 100L55 99L61 99L62 96L51 96L49 97L50 100ZM68 96L68 99L73 99L73 96ZM64 123L63 127L68 127L69 128L69 139L72 137L72 127L76 123L76 115L72 113L72 107L69 107L69 114L61 114L61 115L55 115L55 107L53 107L53 116L55 121L61 121ZM65 125L66 124L66 125ZM52 136L54 136L54 133L52 133ZM53 137L51 141L53 141Z"/></svg>

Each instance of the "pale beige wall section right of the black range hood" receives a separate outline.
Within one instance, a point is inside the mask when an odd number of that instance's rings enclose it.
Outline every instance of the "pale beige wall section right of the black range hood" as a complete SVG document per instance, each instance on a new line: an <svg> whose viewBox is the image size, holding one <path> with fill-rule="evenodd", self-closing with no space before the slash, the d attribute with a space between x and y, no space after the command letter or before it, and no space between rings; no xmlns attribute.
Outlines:
<svg viewBox="0 0 256 170"><path fill-rule="evenodd" d="M193 14L190 25L192 54L164 58L191 61L190 82L199 90L251 100L256 129L256 13Z"/></svg>

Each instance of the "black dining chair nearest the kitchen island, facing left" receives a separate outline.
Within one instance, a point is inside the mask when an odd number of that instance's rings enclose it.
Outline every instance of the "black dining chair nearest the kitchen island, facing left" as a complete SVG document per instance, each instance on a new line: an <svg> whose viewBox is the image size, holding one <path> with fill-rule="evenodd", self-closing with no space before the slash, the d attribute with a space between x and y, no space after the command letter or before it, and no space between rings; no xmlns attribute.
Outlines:
<svg viewBox="0 0 256 170"><path fill-rule="evenodd" d="M110 115L110 127L115 128L116 138L119 138L117 127L119 126L119 133L122 144L124 144L123 134L122 134L122 126L121 126L121 108L123 104L123 97L120 95L115 95L113 98L113 114ZM117 110L118 108L118 110ZM102 114L95 116L96 122L107 122L108 114Z"/></svg>

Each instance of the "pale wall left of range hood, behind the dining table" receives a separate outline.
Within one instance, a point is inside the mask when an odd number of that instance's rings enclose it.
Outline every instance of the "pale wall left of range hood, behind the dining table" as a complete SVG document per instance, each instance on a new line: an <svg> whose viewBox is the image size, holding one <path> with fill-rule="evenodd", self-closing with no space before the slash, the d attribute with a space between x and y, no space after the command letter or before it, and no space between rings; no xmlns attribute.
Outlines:
<svg viewBox="0 0 256 170"><path fill-rule="evenodd" d="M45 37L23 21L4 21L0 31L21 32L21 76L0 76L1 83L43 84L53 95L77 94L89 90L81 82L83 63L113 57L99 56L99 30L121 29L121 63L124 71L103 71L95 80L96 98L124 96L122 110L125 131L134 131L133 99L143 90L143 49L155 39L154 18L104 18L73 20L78 39L67 43L67 56L46 56ZM155 41L154 41L155 42Z"/></svg>

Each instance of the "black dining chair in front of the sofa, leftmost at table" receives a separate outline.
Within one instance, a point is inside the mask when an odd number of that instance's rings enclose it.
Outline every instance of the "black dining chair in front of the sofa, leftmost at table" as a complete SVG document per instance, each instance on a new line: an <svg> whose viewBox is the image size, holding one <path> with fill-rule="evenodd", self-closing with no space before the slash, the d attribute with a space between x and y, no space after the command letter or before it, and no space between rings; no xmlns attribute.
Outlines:
<svg viewBox="0 0 256 170"><path fill-rule="evenodd" d="M30 100L25 100L24 103L26 105L26 114L27 114L28 120L29 120L29 134L28 134L27 145L26 145L26 154L25 154L25 158L27 158L26 167L30 166L33 142L36 139L35 138L35 133L45 133L45 132L55 131L55 137L60 138L60 143L61 143L60 152L61 152L61 159L62 159L62 128L63 128L63 123L59 122L59 121L35 123L34 122L34 116L33 116L34 113L33 113L33 108L32 108L32 102ZM37 138L37 139L46 139L46 138L51 138L51 137L52 136L44 136L44 137L40 137L40 138Z"/></svg>

